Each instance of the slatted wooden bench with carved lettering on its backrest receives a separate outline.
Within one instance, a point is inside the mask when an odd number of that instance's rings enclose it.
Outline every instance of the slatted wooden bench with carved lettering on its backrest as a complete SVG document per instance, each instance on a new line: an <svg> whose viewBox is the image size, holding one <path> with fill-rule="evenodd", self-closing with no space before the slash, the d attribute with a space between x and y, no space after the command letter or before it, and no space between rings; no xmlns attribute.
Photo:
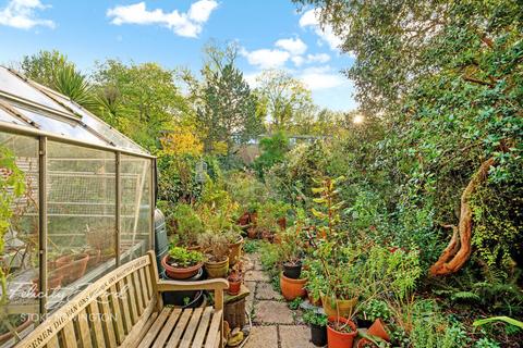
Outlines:
<svg viewBox="0 0 523 348"><path fill-rule="evenodd" d="M226 279L160 281L153 251L121 265L51 314L16 347L223 346ZM163 307L162 291L214 290L215 307Z"/></svg>

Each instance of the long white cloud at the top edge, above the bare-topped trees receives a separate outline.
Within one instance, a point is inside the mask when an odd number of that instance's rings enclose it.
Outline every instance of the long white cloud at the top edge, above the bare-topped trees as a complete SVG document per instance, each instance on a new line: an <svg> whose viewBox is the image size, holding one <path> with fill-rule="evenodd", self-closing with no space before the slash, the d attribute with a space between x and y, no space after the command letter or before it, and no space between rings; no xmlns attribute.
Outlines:
<svg viewBox="0 0 523 348"><path fill-rule="evenodd" d="M107 10L107 16L112 17L115 25L161 25L184 37L197 37L202 33L203 25L209 20L211 12L218 7L215 0L199 0L194 2L187 13L178 10L163 12L161 9L147 10L144 1L118 5Z"/></svg>

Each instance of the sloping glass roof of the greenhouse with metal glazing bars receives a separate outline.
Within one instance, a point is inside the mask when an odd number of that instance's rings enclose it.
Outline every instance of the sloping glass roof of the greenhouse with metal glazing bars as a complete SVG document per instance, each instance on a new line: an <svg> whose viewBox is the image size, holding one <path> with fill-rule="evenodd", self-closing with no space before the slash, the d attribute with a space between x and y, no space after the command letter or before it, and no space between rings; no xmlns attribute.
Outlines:
<svg viewBox="0 0 523 348"><path fill-rule="evenodd" d="M4 66L0 66L0 128L147 156L141 146L68 97Z"/></svg>

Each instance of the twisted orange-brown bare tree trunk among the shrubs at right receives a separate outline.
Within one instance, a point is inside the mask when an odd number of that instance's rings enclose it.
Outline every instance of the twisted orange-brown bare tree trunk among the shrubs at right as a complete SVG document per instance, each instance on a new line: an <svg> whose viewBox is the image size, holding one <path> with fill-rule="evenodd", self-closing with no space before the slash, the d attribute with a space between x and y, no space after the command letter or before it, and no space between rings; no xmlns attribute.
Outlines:
<svg viewBox="0 0 523 348"><path fill-rule="evenodd" d="M453 229L452 238L438 261L430 266L430 275L436 276L455 273L469 260L472 252L472 210L470 207L470 199L477 186L487 179L488 170L494 165L494 158L483 162L469 182L469 185L466 185L461 195L460 223L458 227L450 226Z"/></svg>

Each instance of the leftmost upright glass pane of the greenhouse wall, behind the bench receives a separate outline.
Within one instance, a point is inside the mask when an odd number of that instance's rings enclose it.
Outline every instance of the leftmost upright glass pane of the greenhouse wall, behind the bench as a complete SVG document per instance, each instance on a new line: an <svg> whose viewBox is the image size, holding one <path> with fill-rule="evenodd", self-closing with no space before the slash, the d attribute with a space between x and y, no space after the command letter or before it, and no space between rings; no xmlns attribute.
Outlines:
<svg viewBox="0 0 523 348"><path fill-rule="evenodd" d="M0 158L5 157L13 157L14 164L22 171L25 190L15 197L12 187L1 189L1 198L10 201L12 217L9 220L10 226L3 237L3 252L0 254L0 266L8 275L7 314L0 313L0 322L2 324L9 322L14 327L25 324L26 327L21 333L21 336L25 336L33 328L26 321L28 319L37 321L39 312L38 140L0 133ZM0 176L3 178L12 175L11 173L11 167L0 166ZM0 335L8 332L9 330L2 328ZM4 345L11 347L14 339L10 338Z"/></svg>

